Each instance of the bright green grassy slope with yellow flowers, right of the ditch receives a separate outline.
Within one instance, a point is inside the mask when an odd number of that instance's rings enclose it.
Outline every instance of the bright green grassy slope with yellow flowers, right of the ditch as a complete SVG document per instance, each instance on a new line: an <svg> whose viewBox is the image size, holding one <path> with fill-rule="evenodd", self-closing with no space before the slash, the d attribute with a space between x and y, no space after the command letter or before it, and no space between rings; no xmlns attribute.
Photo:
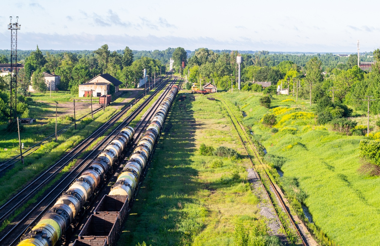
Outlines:
<svg viewBox="0 0 380 246"><path fill-rule="evenodd" d="M268 154L279 156L282 185L301 196L313 221L339 245L378 245L380 179L358 173L362 136L345 136L317 126L306 101L274 96L271 109L260 106L261 93L221 93L235 115L253 131ZM236 106L234 106L236 105ZM247 117L242 117L242 112ZM263 126L264 114L277 115L279 132ZM281 165L282 164L282 165ZM303 191L306 198L302 197Z"/></svg>

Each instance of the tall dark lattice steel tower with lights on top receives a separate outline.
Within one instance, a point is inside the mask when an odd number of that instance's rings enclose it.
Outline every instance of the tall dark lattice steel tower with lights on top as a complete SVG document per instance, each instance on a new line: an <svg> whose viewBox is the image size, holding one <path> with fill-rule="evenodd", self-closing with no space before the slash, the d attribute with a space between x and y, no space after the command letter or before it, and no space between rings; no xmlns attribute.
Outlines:
<svg viewBox="0 0 380 246"><path fill-rule="evenodd" d="M19 17L16 16L16 23L11 21L8 25L8 30L11 30L11 105L10 105L10 120L11 123L17 119L17 30L20 30L21 25L18 24Z"/></svg>

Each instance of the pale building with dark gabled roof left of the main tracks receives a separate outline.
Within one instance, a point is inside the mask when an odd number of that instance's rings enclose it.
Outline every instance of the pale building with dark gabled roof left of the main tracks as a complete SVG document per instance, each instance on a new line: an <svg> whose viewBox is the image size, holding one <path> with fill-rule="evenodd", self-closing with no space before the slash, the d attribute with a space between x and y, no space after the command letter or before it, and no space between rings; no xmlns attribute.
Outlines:
<svg viewBox="0 0 380 246"><path fill-rule="evenodd" d="M112 77L108 73L99 74L88 82L79 85L79 97L87 97L88 95L92 96L103 96L108 95L109 86L114 85L115 93L119 92L119 85L123 84L120 80Z"/></svg>

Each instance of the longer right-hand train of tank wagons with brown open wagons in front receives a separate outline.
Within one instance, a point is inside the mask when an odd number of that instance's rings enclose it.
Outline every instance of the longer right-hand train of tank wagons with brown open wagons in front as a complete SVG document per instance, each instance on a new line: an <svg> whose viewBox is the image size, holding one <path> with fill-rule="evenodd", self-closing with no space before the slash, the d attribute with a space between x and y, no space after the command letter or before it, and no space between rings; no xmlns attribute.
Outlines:
<svg viewBox="0 0 380 246"><path fill-rule="evenodd" d="M146 166L152 157L163 123L177 93L178 87L174 85L156 110L145 134L119 173L111 191L103 197L95 208L73 246L83 245L83 243L87 243L87 245L116 245L119 232L138 190L138 184L147 170Z"/></svg>

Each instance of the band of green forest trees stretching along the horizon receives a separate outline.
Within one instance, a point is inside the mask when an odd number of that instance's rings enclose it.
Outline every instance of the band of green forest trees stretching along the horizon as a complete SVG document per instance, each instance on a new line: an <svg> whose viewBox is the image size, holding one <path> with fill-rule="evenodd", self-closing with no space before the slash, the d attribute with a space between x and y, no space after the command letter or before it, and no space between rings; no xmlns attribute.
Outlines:
<svg viewBox="0 0 380 246"><path fill-rule="evenodd" d="M379 58L378 50L360 55L361 61L373 61ZM174 69L179 72L182 61L185 68L181 74L188 77L190 84L215 81L218 90L231 88L231 80L236 87L236 56L243 57L241 66L242 90L261 91L260 85L254 81L271 81L282 83L290 91L293 90L293 80L300 81L299 96L310 98L310 83L312 84L312 102L325 96L332 99L332 87L336 89L336 103L349 105L365 110L363 96L379 98L377 92L380 86L380 69L374 65L371 72L364 72L357 66L357 55L340 57L332 53L306 55L281 54L268 51L244 52L233 50L210 50L199 48L195 51L182 47L166 50L109 50L104 44L97 50L19 50L18 58L24 69L18 74L17 92L28 96L28 86L32 84L37 91L46 91L42 72L46 71L61 76L59 90L78 94L78 85L87 82L100 73L109 73L123 82L121 87L135 88L142 77L142 70L147 69L149 77L154 73L164 73L168 70L169 60L173 58ZM0 63L9 62L9 50L0 50ZM324 73L323 73L324 72ZM189 85L190 87L190 85ZM0 117L5 120L9 104L9 76L0 79ZM275 93L276 86L265 89ZM23 99L21 101L24 101ZM22 105L22 104L20 104ZM22 114L24 107L19 109ZM380 112L380 101L372 101L372 113ZM331 118L328 114L328 119Z"/></svg>

